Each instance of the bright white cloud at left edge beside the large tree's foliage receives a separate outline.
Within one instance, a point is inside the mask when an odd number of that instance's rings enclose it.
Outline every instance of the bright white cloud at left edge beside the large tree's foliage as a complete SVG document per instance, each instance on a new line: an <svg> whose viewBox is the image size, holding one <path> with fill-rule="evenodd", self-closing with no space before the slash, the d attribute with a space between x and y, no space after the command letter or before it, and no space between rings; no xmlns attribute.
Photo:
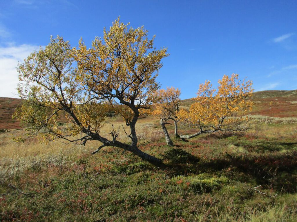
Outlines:
<svg viewBox="0 0 297 222"><path fill-rule="evenodd" d="M18 98L15 89L19 82L16 67L35 49L37 46L26 44L0 47L0 96Z"/></svg>

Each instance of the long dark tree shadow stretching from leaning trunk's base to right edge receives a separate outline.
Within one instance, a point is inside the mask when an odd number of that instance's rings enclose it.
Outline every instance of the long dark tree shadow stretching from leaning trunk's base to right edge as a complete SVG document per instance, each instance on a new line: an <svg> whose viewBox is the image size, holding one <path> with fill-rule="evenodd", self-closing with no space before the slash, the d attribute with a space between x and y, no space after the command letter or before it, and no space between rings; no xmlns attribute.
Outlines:
<svg viewBox="0 0 297 222"><path fill-rule="evenodd" d="M224 157L201 162L198 159L190 161L189 157L195 156L185 151L180 157L174 157L176 152L180 150L173 149L166 155L166 159L170 160L170 172L173 176L213 173L235 181L255 182L256 185L278 192L297 191L297 151L244 157L226 153Z"/></svg>

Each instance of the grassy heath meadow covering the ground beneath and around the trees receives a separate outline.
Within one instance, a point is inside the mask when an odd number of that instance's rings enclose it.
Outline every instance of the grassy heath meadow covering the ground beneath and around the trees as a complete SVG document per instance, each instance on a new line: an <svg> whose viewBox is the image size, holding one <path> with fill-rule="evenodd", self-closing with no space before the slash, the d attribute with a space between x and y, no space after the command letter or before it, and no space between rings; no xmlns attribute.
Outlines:
<svg viewBox="0 0 297 222"><path fill-rule="evenodd" d="M158 119L141 118L139 147L165 169L118 148L91 155L98 142L16 142L25 130L2 129L0 221L297 221L296 94L262 94L247 131L172 138L172 148ZM128 141L122 123L107 118L101 133L113 124Z"/></svg>

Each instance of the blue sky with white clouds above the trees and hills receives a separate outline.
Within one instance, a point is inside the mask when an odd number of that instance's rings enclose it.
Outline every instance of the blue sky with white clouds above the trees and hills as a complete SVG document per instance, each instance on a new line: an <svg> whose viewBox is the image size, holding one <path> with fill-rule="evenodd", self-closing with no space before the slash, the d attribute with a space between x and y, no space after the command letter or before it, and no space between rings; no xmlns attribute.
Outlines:
<svg viewBox="0 0 297 222"><path fill-rule="evenodd" d="M63 36L72 46L103 35L120 16L168 47L158 81L194 97L238 73L256 91L297 89L297 1L0 1L0 96L18 97L15 67L30 52Z"/></svg>

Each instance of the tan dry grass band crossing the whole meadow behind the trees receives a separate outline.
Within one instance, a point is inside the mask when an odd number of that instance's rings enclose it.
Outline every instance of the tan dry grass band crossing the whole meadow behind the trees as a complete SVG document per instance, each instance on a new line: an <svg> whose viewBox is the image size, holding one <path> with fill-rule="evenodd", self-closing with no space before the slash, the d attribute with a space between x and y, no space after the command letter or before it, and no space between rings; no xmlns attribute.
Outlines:
<svg viewBox="0 0 297 222"><path fill-rule="evenodd" d="M250 115L251 121L249 129L246 132L248 137L261 138L291 138L296 139L297 118L274 118L260 115ZM102 127L100 134L111 139L109 132L112 129L119 129L119 141L129 143L129 138L124 133L123 126L126 132L129 128L123 124L120 119L108 119L105 126ZM197 129L181 129L181 133L196 132ZM169 126L169 132L172 133L173 126ZM162 140L163 132L159 127L158 120L148 117L141 119L136 125L136 132L139 139L139 144L155 142ZM8 159L19 159L21 157L43 157L56 155L66 156L68 160L76 159L77 156L89 154L101 145L98 141L89 141L86 146L77 144L65 144L65 141L53 141L47 144L41 143L38 139L33 138L25 142L16 142L13 138L17 138L26 133L25 130L10 130L0 134L0 157Z"/></svg>

